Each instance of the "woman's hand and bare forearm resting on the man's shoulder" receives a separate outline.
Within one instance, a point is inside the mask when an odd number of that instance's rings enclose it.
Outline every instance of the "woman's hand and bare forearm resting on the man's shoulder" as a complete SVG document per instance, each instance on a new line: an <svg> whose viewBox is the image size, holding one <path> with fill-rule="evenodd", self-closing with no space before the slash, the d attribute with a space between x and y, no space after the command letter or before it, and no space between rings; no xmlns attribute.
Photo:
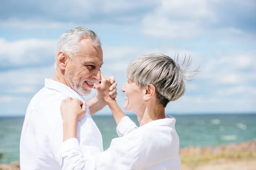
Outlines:
<svg viewBox="0 0 256 170"><path fill-rule="evenodd" d="M63 119L63 142L76 138L77 121L86 113L86 106L79 99L68 97L61 102L61 117Z"/></svg>

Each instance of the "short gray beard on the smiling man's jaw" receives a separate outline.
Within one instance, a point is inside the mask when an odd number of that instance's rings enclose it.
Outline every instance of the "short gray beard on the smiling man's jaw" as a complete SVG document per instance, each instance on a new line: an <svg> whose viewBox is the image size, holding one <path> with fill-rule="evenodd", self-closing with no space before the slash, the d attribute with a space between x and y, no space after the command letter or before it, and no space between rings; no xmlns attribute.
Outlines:
<svg viewBox="0 0 256 170"><path fill-rule="evenodd" d="M75 79L75 75L71 73L71 71L66 71L67 73L67 82L70 84L71 88L76 91L76 93L80 94L81 96L88 96L90 95L91 88L84 89L83 84L84 81L90 80L90 82L95 82L95 80L91 79L84 79L79 81Z"/></svg>

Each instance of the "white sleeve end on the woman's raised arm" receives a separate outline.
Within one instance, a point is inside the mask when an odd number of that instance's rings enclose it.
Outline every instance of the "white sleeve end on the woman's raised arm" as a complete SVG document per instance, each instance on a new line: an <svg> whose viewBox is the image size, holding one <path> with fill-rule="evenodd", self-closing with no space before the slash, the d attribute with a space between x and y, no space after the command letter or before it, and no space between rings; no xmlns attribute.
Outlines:
<svg viewBox="0 0 256 170"><path fill-rule="evenodd" d="M124 116L116 127L116 133L122 137L137 128L137 125L128 116Z"/></svg>

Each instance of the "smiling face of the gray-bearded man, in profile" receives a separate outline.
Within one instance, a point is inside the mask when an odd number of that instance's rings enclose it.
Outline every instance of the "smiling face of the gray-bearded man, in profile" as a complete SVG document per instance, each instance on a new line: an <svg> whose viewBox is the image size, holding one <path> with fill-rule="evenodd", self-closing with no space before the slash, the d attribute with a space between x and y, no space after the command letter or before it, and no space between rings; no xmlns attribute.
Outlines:
<svg viewBox="0 0 256 170"><path fill-rule="evenodd" d="M94 47L90 39L81 41L78 56L70 59L66 68L66 79L71 88L82 96L90 94L96 81L101 81L100 67L103 64L101 47Z"/></svg>

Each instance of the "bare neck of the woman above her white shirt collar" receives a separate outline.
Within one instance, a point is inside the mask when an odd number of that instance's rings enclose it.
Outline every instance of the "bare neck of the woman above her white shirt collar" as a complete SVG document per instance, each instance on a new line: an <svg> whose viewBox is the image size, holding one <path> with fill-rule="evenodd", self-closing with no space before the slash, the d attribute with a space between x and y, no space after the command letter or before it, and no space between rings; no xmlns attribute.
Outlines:
<svg viewBox="0 0 256 170"><path fill-rule="evenodd" d="M144 114L137 114L140 126L147 124L148 122L164 119L165 109L161 105L147 105L144 110ZM140 116L140 117L139 117Z"/></svg>

